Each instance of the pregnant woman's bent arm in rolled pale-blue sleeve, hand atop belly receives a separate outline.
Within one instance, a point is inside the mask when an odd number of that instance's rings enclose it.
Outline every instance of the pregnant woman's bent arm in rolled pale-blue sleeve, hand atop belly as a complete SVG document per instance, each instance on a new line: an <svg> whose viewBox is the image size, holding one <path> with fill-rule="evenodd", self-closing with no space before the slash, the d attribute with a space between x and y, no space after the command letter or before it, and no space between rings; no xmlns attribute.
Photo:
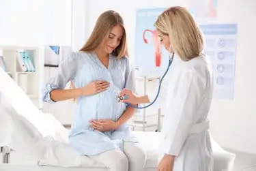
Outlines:
<svg viewBox="0 0 256 171"><path fill-rule="evenodd" d="M77 54L72 52L68 55L67 59L61 63L57 76L49 80L46 87L44 87L44 102L58 102L67 99L75 99L81 95L94 95L109 87L109 82L97 80L79 89L64 89L66 84L74 79L76 70L79 69L78 59Z"/></svg>

